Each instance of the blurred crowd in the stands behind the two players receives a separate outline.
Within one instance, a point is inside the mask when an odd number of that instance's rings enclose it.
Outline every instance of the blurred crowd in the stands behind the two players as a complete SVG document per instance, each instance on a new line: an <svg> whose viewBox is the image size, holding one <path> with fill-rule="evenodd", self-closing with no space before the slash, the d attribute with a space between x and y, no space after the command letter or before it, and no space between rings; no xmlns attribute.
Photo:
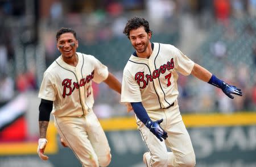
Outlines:
<svg viewBox="0 0 256 167"><path fill-rule="evenodd" d="M212 27L224 27L220 39L214 39L207 44L209 49L196 55L200 48L186 53L195 62L206 65L219 78L233 85L242 88L243 97L236 97L230 100L220 89L216 89L207 83L201 82L193 77L179 77L179 105L181 112L236 112L256 110L256 36L255 24L243 24L245 29L236 32L236 27L230 23L230 19L243 20L256 17L255 0L133 0L133 1L47 1L41 13L32 16L29 11L25 12L22 2L11 3L11 1L0 2L0 18L5 18L0 23L0 104L10 101L16 94L26 91L38 91L43 69L46 69L53 60L59 56L56 48L55 32L60 27L72 27L77 31L80 45L94 46L102 43L110 43L113 39L126 38L123 34L123 27L131 16L139 15L149 20L154 35L172 34L179 31L181 19L189 15L198 26L198 32L207 31ZM39 2L38 2L39 3ZM44 3L41 1L41 3ZM46 3L46 2L45 2ZM40 4L40 3L39 3ZM19 7L20 5L20 7ZM42 5L42 4L41 4ZM47 9L46 9L47 6ZM19 10L17 10L19 9ZM35 9L36 10L36 9ZM32 19L27 19L32 18ZM34 21L31 21L36 19ZM37 20L39 19L39 20ZM24 22L26 20L26 22ZM253 19L252 19L253 20ZM255 19L254 19L255 21ZM243 23L243 22L241 22ZM37 30L35 32L35 30ZM191 32L195 33L195 32ZM238 35L237 35L238 34ZM236 47L241 57L234 57L232 60L226 56L229 54L229 43L226 41L240 40L241 36L249 34L251 45L248 52L250 60L244 60L242 45L240 42ZM154 37L153 35L153 37ZM210 36L210 35L209 35ZM214 36L214 35L213 35ZM227 36L226 40L221 36ZM196 40L196 39L195 39ZM246 38L245 38L246 40ZM182 40L179 40L182 41ZM159 41L161 42L161 41ZM170 41L171 43L171 41ZM232 43L233 44L233 43ZM38 59L36 47L30 51L31 45L40 45L39 50L44 61L44 66L36 66ZM129 41L125 45L130 45ZM179 43L175 43L179 48ZM202 44L203 45L203 44ZM115 48L114 52L122 45ZM182 48L180 48L182 50ZM248 49L247 49L248 50ZM30 52L32 52L32 54ZM90 51L83 51L89 52ZM105 51L108 55L108 51ZM195 53L194 53L195 52ZM31 56L27 56L30 53ZM95 52L97 54L97 52ZM117 53L118 54L118 53ZM127 55L131 54L127 51ZM208 62L215 66L223 62L217 70L204 64L200 56L210 57ZM97 55L94 55L97 57ZM228 57L228 58L225 58ZM109 58L111 59L111 58ZM112 62L113 66L118 62ZM217 65L216 65L217 66ZM238 68L239 67L239 68ZM42 68L42 70L39 70ZM109 66L109 69L114 69ZM122 69L113 71L115 76L122 80ZM119 95L104 85L93 85L96 105L94 111L100 117L126 115L125 106L119 104ZM109 98L113 97L113 98ZM105 112L102 112L104 110Z"/></svg>

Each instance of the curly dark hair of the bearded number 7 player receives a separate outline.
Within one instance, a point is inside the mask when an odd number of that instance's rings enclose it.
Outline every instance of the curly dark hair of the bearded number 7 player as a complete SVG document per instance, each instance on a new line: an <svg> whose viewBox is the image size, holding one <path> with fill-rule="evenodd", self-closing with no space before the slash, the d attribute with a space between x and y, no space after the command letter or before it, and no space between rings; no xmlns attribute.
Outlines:
<svg viewBox="0 0 256 167"><path fill-rule="evenodd" d="M134 17L134 18L131 18L130 20L128 20L128 22L126 23L125 29L123 29L123 34L125 34L129 38L130 31L137 29L141 26L144 27L144 29L147 33L148 32L152 33L152 31L149 28L149 23L146 19Z"/></svg>

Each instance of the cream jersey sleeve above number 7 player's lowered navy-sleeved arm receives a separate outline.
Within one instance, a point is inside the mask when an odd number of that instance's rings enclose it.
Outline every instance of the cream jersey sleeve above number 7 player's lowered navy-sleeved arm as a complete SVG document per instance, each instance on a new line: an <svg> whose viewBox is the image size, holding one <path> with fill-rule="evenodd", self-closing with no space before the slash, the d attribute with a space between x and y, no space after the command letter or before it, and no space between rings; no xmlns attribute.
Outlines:
<svg viewBox="0 0 256 167"><path fill-rule="evenodd" d="M124 70L122 80L121 102L141 102L141 91L131 74Z"/></svg>

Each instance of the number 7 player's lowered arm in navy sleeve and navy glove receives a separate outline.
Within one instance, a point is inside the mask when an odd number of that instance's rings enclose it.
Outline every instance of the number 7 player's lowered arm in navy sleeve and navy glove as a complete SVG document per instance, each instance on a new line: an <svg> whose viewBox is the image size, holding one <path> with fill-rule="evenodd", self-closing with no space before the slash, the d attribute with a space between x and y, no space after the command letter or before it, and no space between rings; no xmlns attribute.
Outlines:
<svg viewBox="0 0 256 167"><path fill-rule="evenodd" d="M145 126L156 136L160 141L166 140L168 137L167 132L160 127L163 119L152 121L141 102L131 103L136 116L145 124Z"/></svg>

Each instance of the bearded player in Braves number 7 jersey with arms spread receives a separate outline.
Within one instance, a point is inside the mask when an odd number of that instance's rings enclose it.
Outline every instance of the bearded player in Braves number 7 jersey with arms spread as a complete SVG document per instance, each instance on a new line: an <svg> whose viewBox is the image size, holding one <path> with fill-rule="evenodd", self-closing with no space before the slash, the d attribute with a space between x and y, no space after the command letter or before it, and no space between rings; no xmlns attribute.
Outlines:
<svg viewBox="0 0 256 167"><path fill-rule="evenodd" d="M177 103L178 73L192 74L217 86L232 99L232 94L242 96L241 89L219 80L173 45L151 43L152 31L146 19L128 20L123 34L135 52L123 70L121 102L130 102L137 116L138 130L148 148L144 163L195 166L195 153Z"/></svg>

